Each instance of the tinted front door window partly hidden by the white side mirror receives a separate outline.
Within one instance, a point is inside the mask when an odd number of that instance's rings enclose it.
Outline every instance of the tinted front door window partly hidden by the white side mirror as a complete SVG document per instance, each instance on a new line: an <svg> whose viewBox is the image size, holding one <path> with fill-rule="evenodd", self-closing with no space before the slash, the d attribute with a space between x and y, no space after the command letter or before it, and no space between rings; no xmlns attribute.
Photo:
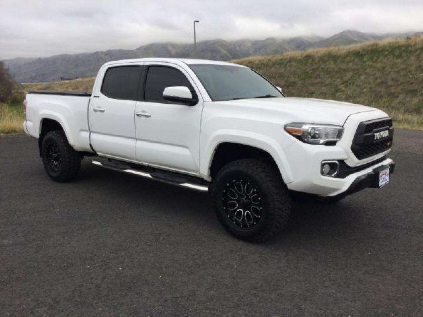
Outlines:
<svg viewBox="0 0 423 317"><path fill-rule="evenodd" d="M163 90L171 86L185 86L193 91L187 77L175 68L150 66L146 80L145 101L168 103L163 99Z"/></svg>

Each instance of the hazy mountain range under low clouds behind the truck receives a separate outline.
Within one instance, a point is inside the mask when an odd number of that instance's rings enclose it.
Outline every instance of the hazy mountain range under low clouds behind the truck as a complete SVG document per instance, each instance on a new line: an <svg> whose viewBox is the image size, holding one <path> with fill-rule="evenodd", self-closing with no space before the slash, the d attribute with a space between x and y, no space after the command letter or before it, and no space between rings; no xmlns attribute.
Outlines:
<svg viewBox="0 0 423 317"><path fill-rule="evenodd" d="M232 60L255 55L276 55L290 51L316 47L342 46L384 38L405 38L415 33L408 32L378 35L346 30L329 38L302 36L294 38L266 38L264 40L225 41L214 39L197 43L196 52L192 44L153 43L137 49L109 49L93 53L61 54L44 58L14 58L4 60L16 82L49 82L63 78L96 76L102 64L111 60L140 57L185 57L209 60Z"/></svg>

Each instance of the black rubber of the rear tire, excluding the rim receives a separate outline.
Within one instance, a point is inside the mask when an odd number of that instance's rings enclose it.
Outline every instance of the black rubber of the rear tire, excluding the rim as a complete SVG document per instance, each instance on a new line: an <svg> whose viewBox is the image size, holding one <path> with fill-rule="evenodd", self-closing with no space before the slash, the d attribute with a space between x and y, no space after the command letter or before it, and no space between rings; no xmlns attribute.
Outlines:
<svg viewBox="0 0 423 317"><path fill-rule="evenodd" d="M44 142L48 142L48 139L52 138L57 143L58 147L60 148L60 155L62 160L62 168L60 173L57 176L51 175L48 172L47 167L47 161L44 158ZM46 141L47 140L47 141ZM74 179L81 168L81 156L80 154L75 151L71 145L68 142L68 139L66 138L66 134L64 131L61 130L55 130L48 132L44 139L43 139L43 146L42 146L42 158L43 158L43 164L44 168L47 171L47 174L52 178L52 180L55 180L56 182L63 183L67 182L69 180Z"/></svg>

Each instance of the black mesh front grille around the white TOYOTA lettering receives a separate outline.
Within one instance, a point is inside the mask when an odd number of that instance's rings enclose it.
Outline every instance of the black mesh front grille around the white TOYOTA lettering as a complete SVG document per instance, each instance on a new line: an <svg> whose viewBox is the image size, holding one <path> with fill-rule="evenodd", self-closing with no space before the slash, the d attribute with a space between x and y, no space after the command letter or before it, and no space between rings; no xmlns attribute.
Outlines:
<svg viewBox="0 0 423 317"><path fill-rule="evenodd" d="M375 133L382 131L388 131L388 135L375 140ZM351 145L352 153L362 160L389 150L392 147L393 135L394 128L390 118L364 121L357 127Z"/></svg>

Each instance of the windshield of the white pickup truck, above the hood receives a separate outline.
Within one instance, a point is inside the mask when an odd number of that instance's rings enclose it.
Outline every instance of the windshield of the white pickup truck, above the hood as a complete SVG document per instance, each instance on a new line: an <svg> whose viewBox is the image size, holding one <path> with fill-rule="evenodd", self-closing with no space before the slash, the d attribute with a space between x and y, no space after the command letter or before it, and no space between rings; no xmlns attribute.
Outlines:
<svg viewBox="0 0 423 317"><path fill-rule="evenodd" d="M233 65L190 65L211 100L283 97L264 77L247 67Z"/></svg>

